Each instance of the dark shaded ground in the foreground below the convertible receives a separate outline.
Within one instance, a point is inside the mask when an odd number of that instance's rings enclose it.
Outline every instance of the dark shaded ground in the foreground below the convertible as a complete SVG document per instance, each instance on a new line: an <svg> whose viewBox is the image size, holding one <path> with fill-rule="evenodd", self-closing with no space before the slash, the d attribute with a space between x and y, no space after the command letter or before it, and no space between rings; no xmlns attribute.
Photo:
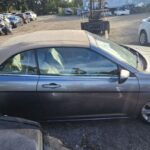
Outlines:
<svg viewBox="0 0 150 150"><path fill-rule="evenodd" d="M44 128L73 150L150 149L150 126L140 120L49 123Z"/></svg>

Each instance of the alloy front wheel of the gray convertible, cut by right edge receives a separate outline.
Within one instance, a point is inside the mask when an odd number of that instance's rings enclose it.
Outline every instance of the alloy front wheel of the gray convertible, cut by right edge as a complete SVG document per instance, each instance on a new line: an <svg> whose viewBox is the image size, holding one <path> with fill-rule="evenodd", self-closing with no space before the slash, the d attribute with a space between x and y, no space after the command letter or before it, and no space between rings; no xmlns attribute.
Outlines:
<svg viewBox="0 0 150 150"><path fill-rule="evenodd" d="M150 123L150 103L147 103L142 108L142 117L144 118L145 121Z"/></svg>

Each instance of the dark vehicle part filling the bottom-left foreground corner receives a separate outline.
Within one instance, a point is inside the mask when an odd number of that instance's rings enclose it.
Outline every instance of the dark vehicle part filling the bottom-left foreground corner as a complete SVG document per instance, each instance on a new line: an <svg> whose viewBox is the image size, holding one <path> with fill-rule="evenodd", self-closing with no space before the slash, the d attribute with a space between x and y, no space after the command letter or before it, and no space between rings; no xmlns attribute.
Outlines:
<svg viewBox="0 0 150 150"><path fill-rule="evenodd" d="M43 150L42 132L36 122L0 117L0 149Z"/></svg>

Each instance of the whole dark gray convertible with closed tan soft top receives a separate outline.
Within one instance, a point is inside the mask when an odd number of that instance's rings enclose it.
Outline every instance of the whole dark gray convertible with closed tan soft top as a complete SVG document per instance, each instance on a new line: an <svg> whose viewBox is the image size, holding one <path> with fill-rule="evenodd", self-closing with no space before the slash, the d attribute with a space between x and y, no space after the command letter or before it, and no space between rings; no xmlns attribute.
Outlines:
<svg viewBox="0 0 150 150"><path fill-rule="evenodd" d="M40 121L150 122L150 48L85 31L40 31L0 46L0 113Z"/></svg>

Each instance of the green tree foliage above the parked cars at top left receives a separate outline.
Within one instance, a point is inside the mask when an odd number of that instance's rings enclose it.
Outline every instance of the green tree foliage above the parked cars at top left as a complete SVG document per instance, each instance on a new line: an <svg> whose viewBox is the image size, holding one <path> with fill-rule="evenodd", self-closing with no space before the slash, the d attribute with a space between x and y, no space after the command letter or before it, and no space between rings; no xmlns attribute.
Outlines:
<svg viewBox="0 0 150 150"><path fill-rule="evenodd" d="M72 2L63 0L0 0L0 11L9 12L13 9L24 12L29 9L38 14L48 14L49 12L58 12L58 7L77 7L81 3L82 0L73 0Z"/></svg>

